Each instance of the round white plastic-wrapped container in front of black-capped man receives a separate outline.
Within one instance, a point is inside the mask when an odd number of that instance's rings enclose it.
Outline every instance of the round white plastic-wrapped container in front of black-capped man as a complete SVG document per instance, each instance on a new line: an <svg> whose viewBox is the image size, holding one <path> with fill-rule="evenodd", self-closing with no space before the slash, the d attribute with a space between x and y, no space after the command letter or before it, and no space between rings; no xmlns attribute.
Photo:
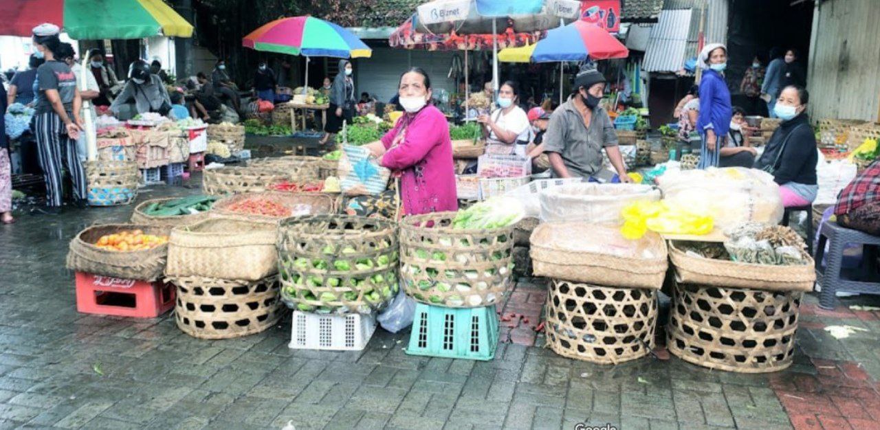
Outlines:
<svg viewBox="0 0 880 430"><path fill-rule="evenodd" d="M541 222L589 221L622 224L620 211L638 200L660 200L652 186L635 184L566 184L539 194Z"/></svg>

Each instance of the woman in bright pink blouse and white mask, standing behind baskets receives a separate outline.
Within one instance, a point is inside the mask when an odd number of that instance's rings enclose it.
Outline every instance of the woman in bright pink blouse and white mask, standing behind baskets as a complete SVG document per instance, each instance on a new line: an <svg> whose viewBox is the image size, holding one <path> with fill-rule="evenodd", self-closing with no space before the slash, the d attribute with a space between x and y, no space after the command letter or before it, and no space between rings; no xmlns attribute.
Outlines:
<svg viewBox="0 0 880 430"><path fill-rule="evenodd" d="M405 215L458 210L449 124L429 105L431 81L420 68L400 76L400 105L404 113L380 142L368 145L379 164L400 178Z"/></svg>

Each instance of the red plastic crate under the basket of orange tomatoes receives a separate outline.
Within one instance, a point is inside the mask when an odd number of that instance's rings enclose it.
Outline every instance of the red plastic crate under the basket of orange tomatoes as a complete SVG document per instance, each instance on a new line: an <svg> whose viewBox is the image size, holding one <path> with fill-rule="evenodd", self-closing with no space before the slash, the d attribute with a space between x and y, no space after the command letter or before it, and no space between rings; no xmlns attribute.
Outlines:
<svg viewBox="0 0 880 430"><path fill-rule="evenodd" d="M171 283L77 272L77 310L86 314L155 318L174 308Z"/></svg>

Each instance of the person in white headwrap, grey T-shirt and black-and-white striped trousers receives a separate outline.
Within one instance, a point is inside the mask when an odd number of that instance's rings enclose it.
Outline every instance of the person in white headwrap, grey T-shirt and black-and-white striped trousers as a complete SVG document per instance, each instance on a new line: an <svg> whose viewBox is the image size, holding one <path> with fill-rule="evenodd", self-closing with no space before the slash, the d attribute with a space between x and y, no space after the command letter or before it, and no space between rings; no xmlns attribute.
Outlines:
<svg viewBox="0 0 880 430"><path fill-rule="evenodd" d="M85 200L85 173L77 157L77 136L82 127L79 110L82 100L77 78L57 54L62 48L58 27L41 24L33 29L33 45L46 58L37 69L34 135L40 166L46 179L46 208L35 208L34 215L57 214L62 205L62 166L73 182L77 203Z"/></svg>

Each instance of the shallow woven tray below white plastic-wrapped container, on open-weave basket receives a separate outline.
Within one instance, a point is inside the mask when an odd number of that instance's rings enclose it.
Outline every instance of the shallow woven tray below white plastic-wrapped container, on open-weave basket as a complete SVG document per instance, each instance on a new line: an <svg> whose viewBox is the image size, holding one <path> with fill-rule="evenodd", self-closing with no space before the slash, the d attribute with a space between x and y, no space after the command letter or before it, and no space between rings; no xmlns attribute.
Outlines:
<svg viewBox="0 0 880 430"><path fill-rule="evenodd" d="M580 232L579 232L580 230ZM666 244L656 233L649 232L642 241L649 258L619 257L610 253L577 251L558 244L560 237L580 236L581 222L542 223L532 232L532 270L536 276L589 282L610 287L663 287L666 269ZM586 233L589 236L589 233Z"/></svg>

